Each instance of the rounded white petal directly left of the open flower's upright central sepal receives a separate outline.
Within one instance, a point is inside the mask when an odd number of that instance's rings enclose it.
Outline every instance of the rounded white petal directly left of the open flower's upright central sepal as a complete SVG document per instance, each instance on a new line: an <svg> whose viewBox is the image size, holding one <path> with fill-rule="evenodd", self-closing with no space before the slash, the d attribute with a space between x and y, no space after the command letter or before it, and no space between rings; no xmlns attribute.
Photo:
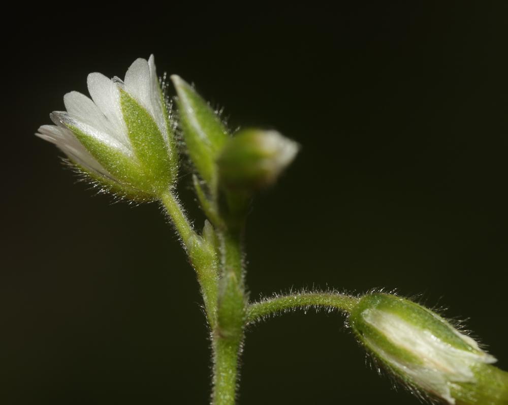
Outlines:
<svg viewBox="0 0 508 405"><path fill-rule="evenodd" d="M96 103L111 124L113 130L110 134L111 137L130 148L117 84L101 73L90 73L87 84L93 102Z"/></svg>

